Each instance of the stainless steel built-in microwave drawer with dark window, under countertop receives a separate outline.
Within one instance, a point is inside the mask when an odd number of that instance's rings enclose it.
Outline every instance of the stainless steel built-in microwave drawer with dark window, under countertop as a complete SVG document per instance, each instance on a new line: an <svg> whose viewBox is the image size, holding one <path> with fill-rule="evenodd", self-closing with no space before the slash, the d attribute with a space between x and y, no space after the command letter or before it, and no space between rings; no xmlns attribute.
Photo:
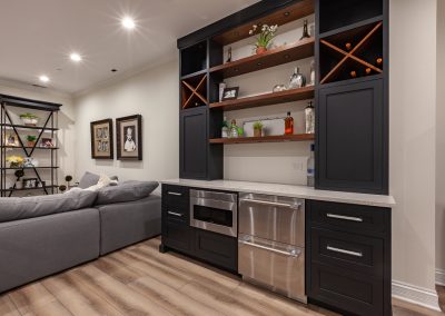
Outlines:
<svg viewBox="0 0 445 316"><path fill-rule="evenodd" d="M237 237L237 195L191 189L190 226Z"/></svg>

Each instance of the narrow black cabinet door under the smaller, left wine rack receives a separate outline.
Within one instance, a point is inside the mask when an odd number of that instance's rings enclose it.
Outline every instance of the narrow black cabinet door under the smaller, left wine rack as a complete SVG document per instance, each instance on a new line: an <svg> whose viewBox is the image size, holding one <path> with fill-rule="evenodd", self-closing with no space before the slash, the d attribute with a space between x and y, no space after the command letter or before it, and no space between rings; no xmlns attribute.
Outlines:
<svg viewBox="0 0 445 316"><path fill-rule="evenodd" d="M207 178L207 108L199 107L180 112L179 155L181 178Z"/></svg>

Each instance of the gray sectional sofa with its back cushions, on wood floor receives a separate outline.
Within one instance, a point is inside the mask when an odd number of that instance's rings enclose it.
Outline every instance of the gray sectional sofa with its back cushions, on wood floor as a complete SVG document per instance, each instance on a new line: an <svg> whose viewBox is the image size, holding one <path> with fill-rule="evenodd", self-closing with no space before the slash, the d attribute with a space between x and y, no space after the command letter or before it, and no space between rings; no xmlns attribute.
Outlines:
<svg viewBox="0 0 445 316"><path fill-rule="evenodd" d="M159 235L157 186L0 198L0 293Z"/></svg>

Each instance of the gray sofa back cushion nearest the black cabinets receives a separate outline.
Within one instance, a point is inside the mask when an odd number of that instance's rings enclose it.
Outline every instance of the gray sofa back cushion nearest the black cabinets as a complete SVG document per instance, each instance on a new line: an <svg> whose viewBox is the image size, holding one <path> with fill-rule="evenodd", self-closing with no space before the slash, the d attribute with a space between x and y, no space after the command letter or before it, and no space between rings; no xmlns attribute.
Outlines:
<svg viewBox="0 0 445 316"><path fill-rule="evenodd" d="M98 190L97 205L125 203L148 197L157 187L157 181L126 181L115 187Z"/></svg>

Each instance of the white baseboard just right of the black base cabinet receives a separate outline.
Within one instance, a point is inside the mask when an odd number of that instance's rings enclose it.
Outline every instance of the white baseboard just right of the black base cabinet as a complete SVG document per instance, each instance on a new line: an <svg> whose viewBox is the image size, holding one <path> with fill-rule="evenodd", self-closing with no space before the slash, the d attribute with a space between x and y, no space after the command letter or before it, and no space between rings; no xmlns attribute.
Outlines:
<svg viewBox="0 0 445 316"><path fill-rule="evenodd" d="M441 312L438 296L435 290L393 280L392 292L395 298Z"/></svg>

